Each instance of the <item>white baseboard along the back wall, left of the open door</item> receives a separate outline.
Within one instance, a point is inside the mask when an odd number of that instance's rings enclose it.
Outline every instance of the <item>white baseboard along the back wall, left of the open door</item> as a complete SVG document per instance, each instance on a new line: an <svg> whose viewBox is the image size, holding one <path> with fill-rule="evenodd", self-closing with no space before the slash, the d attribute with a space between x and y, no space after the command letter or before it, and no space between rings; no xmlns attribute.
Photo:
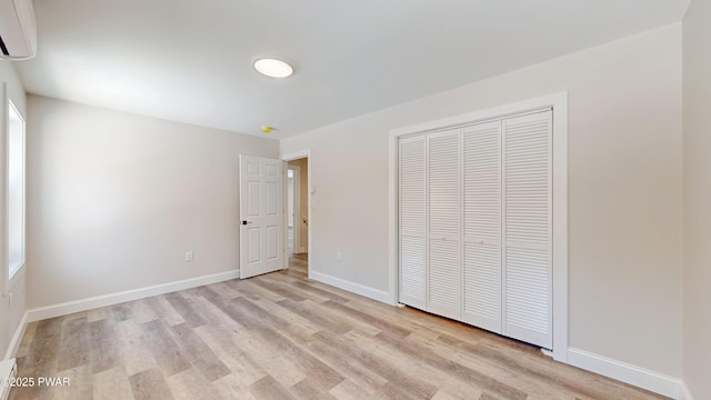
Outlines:
<svg viewBox="0 0 711 400"><path fill-rule="evenodd" d="M169 283L124 290L116 293L97 296L88 299L67 301L63 303L38 307L27 311L27 322L41 321L48 318L67 316L99 307L113 306L127 301L139 300L151 296L170 293L178 290L197 288L204 284L222 282L239 278L239 271L220 272Z"/></svg>

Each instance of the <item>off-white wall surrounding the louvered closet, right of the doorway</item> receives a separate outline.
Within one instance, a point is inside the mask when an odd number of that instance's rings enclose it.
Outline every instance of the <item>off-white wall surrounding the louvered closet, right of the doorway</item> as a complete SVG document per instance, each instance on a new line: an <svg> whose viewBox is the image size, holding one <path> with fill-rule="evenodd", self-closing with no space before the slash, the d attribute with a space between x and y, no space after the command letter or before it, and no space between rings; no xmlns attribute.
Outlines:
<svg viewBox="0 0 711 400"><path fill-rule="evenodd" d="M311 269L388 290L391 129L568 90L570 346L681 377L681 79L677 23L283 140L312 151Z"/></svg>

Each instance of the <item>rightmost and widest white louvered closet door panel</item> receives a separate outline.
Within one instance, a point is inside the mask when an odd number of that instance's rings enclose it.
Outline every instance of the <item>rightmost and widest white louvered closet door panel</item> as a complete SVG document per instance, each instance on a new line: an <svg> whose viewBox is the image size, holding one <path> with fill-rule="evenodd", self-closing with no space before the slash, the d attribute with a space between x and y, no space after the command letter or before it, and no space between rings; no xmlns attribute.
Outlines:
<svg viewBox="0 0 711 400"><path fill-rule="evenodd" d="M552 348L551 111L503 121L503 333Z"/></svg>

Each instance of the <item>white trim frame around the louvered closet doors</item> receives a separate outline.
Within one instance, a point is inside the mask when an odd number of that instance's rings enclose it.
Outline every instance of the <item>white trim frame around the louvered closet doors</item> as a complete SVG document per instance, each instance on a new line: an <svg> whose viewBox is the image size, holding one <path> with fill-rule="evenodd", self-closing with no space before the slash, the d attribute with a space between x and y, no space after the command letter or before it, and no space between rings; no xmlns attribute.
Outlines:
<svg viewBox="0 0 711 400"><path fill-rule="evenodd" d="M461 116L429 121L390 131L388 138L388 274L390 302L398 304L398 146L399 138L432 130L521 114L551 108L553 110L553 359L568 362L568 92L519 101ZM310 171L309 171L310 172ZM310 243L309 243L310 244Z"/></svg>

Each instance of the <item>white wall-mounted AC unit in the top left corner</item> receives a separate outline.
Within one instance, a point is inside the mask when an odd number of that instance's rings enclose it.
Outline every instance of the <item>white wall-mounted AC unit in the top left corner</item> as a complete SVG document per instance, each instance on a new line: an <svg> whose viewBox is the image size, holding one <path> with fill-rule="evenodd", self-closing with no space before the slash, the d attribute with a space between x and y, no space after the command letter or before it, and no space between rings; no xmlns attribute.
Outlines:
<svg viewBox="0 0 711 400"><path fill-rule="evenodd" d="M0 58L27 60L37 54L32 0L0 0Z"/></svg>

